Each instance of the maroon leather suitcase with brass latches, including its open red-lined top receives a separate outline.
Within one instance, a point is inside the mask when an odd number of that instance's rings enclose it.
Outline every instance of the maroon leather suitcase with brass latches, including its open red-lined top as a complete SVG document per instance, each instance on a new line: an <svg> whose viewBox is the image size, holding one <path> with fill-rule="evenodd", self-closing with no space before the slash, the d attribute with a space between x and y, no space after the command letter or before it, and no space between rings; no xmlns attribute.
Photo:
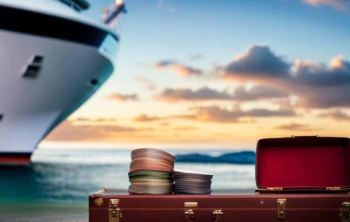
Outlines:
<svg viewBox="0 0 350 222"><path fill-rule="evenodd" d="M349 172L349 138L262 139L256 195L116 195L101 189L89 196L89 222L350 222Z"/></svg>

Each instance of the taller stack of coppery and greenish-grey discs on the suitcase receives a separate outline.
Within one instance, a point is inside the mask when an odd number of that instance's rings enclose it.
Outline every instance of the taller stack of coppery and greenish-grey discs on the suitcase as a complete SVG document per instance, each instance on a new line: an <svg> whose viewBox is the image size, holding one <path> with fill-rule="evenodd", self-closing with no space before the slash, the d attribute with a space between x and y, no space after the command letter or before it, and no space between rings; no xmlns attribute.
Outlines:
<svg viewBox="0 0 350 222"><path fill-rule="evenodd" d="M131 152L129 194L171 194L175 157L158 149Z"/></svg>

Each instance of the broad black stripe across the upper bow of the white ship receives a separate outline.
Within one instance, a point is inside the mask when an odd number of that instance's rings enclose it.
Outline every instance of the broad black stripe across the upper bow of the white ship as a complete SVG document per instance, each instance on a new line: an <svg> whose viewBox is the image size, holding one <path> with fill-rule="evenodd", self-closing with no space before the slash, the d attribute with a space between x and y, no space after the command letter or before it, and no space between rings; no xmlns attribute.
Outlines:
<svg viewBox="0 0 350 222"><path fill-rule="evenodd" d="M0 29L69 40L95 47L99 47L104 38L111 34L65 18L5 6L0 6ZM115 35L112 36L118 40Z"/></svg>

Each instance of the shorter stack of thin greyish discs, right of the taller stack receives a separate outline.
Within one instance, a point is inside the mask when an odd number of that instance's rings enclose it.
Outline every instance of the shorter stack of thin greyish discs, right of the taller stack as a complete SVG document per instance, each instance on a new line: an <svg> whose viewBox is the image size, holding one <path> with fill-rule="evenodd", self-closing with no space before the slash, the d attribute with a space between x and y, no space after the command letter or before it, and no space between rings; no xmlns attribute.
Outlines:
<svg viewBox="0 0 350 222"><path fill-rule="evenodd" d="M211 179L214 174L175 169L175 194L211 194Z"/></svg>

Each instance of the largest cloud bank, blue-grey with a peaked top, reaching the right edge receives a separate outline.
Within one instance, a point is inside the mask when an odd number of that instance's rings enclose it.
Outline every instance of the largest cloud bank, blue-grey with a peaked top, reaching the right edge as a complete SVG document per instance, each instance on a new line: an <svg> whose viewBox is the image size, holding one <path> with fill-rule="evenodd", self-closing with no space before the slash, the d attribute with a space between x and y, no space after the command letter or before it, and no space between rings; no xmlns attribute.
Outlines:
<svg viewBox="0 0 350 222"><path fill-rule="evenodd" d="M343 56L331 60L331 67L310 60L296 60L294 71L268 47L248 47L230 63L222 78L252 81L299 98L303 108L350 107L350 62Z"/></svg>

